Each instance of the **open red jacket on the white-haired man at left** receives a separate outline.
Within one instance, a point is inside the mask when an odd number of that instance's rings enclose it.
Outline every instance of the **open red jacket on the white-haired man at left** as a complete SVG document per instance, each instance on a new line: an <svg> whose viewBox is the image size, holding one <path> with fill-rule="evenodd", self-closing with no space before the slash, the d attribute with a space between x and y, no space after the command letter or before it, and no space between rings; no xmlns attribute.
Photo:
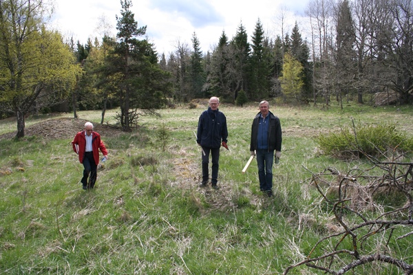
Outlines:
<svg viewBox="0 0 413 275"><path fill-rule="evenodd" d="M107 150L103 141L100 140L100 135L96 132L92 132L92 151L93 151L93 158L95 160L96 165L99 164L99 149L103 153L103 155L107 155ZM78 145L78 151L76 150L76 144ZM83 163L83 157L85 157L85 149L86 149L86 137L85 131L81 131L76 133L74 136L74 140L72 141L73 151L78 153L79 155L79 162Z"/></svg>

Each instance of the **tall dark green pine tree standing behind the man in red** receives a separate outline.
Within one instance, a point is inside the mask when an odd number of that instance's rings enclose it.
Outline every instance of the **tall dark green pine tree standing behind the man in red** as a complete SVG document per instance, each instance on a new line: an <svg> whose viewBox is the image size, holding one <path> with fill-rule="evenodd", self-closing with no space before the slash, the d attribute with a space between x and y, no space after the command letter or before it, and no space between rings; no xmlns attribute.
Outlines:
<svg viewBox="0 0 413 275"><path fill-rule="evenodd" d="M168 76L160 69L153 45L144 36L147 26L138 28L131 12L131 1L121 0L121 17L116 16L118 42L107 57L107 77L118 89L118 121L125 131L138 122L139 109L153 113L165 104L169 92Z"/></svg>

